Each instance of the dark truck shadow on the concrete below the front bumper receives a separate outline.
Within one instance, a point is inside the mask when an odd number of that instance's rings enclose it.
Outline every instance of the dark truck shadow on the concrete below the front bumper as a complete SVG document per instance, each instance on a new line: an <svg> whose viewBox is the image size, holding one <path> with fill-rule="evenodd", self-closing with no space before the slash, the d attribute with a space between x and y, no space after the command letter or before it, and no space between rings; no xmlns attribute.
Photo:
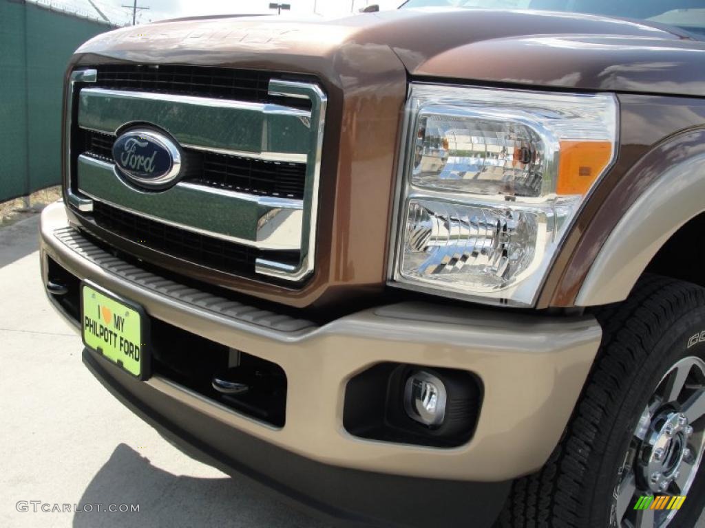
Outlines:
<svg viewBox="0 0 705 528"><path fill-rule="evenodd" d="M203 479L168 473L125 444L93 477L80 498L87 505L139 504L135 513L79 511L74 528L102 527L307 527L325 528L237 478Z"/></svg>

